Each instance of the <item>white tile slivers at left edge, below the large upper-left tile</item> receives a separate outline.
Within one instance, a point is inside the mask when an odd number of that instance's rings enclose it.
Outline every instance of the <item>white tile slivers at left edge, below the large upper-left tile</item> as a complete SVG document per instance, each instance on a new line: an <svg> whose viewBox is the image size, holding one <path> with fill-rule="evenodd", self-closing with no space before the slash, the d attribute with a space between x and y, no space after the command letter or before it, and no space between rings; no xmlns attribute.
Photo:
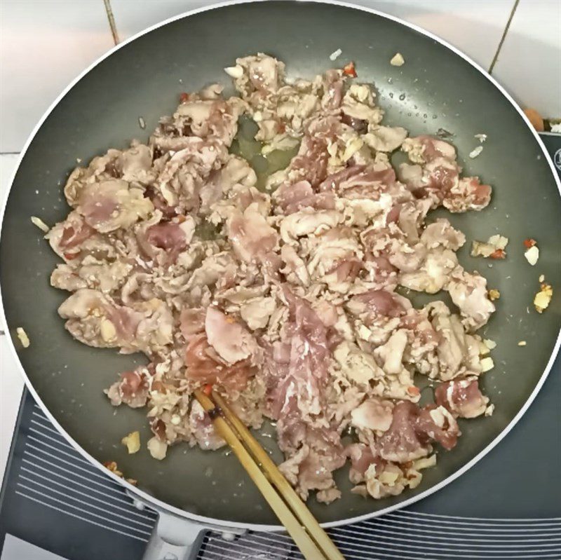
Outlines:
<svg viewBox="0 0 561 560"><path fill-rule="evenodd" d="M2 154L0 156L0 202L4 201L17 161L17 154ZM4 467L10 450L22 390L23 378L18 372L15 360L8 348L8 341L3 334L0 336L0 480L4 474Z"/></svg>

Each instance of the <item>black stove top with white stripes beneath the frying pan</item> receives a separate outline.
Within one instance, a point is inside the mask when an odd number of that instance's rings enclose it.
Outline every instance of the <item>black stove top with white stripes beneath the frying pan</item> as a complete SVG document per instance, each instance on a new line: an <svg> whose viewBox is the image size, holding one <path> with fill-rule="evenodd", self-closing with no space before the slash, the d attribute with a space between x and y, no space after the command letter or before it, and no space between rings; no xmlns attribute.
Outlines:
<svg viewBox="0 0 561 560"><path fill-rule="evenodd" d="M561 136L542 135L561 177ZM347 560L561 560L561 357L522 420L405 510L329 531ZM0 560L140 560L156 512L69 446L25 392L0 493ZM198 560L302 559L285 535L206 533ZM163 559L162 559L163 560Z"/></svg>

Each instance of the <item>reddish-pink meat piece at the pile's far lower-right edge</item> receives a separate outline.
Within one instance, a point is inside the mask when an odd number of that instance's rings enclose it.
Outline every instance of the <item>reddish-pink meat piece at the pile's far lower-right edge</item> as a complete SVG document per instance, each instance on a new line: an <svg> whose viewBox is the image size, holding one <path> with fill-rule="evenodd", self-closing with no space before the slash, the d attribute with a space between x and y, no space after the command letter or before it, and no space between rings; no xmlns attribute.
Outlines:
<svg viewBox="0 0 561 560"><path fill-rule="evenodd" d="M482 395L477 379L454 379L435 389L435 402L460 418L475 418L485 413L489 399Z"/></svg>

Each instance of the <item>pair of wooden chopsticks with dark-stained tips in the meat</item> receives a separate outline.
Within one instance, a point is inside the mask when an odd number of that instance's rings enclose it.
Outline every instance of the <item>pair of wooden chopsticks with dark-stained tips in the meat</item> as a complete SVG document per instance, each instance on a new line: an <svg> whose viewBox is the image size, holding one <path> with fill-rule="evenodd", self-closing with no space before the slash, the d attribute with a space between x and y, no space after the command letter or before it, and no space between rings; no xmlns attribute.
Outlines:
<svg viewBox="0 0 561 560"><path fill-rule="evenodd" d="M195 397L285 526L304 558L344 560L329 535L323 531L288 480L227 402L214 391L208 396L196 390Z"/></svg>

